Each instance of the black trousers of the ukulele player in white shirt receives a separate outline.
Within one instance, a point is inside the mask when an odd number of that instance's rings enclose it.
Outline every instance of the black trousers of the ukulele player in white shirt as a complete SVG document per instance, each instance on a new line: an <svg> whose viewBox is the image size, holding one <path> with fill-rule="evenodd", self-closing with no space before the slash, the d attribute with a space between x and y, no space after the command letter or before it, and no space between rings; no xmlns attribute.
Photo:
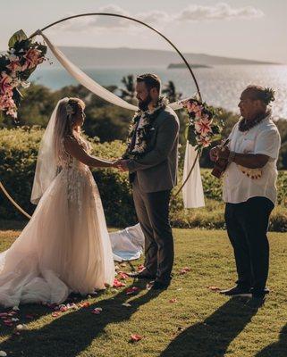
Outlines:
<svg viewBox="0 0 287 357"><path fill-rule="evenodd" d="M269 270L269 243L266 236L274 204L266 197L252 197L243 203L226 203L225 222L231 241L238 285L253 287L264 295Z"/></svg>

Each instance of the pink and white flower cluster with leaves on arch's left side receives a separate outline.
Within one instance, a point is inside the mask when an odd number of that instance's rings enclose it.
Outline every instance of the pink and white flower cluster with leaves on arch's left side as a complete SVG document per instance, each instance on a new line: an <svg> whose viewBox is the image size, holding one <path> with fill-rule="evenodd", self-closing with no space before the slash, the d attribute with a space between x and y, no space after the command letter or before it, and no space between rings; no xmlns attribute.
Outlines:
<svg viewBox="0 0 287 357"><path fill-rule="evenodd" d="M46 46L32 41L23 30L9 40L9 50L0 56L0 112L17 118L21 102L19 87L29 87L27 81L39 63L45 61Z"/></svg>

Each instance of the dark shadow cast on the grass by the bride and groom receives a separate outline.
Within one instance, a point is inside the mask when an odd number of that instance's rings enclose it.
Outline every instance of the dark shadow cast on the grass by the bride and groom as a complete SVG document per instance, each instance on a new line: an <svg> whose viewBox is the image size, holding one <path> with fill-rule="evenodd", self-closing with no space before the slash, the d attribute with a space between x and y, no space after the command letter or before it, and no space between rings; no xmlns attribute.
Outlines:
<svg viewBox="0 0 287 357"><path fill-rule="evenodd" d="M143 284L133 286L142 288ZM97 336L105 336L107 325L129 320L140 305L148 303L159 294L160 292L149 290L145 295L132 300L131 307L123 307L122 303L131 297L123 290L117 295L91 304L89 308L63 314L41 328L22 331L21 336L10 336L0 345L0 349L13 356L75 357ZM101 314L91 313L96 307L103 309ZM106 335L106 338L110 336Z"/></svg>

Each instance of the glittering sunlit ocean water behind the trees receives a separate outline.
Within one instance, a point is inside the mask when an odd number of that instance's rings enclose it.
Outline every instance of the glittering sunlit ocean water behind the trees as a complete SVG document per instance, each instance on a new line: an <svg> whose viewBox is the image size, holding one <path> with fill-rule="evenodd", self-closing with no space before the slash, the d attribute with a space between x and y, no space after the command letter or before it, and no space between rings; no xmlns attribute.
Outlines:
<svg viewBox="0 0 287 357"><path fill-rule="evenodd" d="M122 87L122 77L128 74L156 73L163 82L173 80L183 97L192 95L196 88L187 69L145 68L83 68L89 77L102 86ZM276 100L273 104L274 118L287 119L287 65L216 65L212 68L194 69L203 100L207 104L221 106L238 112L242 90L249 84L273 87ZM76 85L70 74L63 68L39 66L30 79L53 90L68 85Z"/></svg>

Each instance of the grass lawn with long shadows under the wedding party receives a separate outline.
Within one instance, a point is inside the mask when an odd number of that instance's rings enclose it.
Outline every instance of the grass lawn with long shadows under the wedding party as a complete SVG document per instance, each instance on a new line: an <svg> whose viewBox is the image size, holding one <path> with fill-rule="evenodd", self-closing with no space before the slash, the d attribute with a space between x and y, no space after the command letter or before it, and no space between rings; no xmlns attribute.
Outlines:
<svg viewBox="0 0 287 357"><path fill-rule="evenodd" d="M8 248L18 233L0 232L0 250ZM269 235L271 293L259 311L208 288L232 286L236 278L232 248L224 231L174 229L174 235L176 259L168 290L148 291L145 284L129 278L127 287L139 286L138 295L126 295L126 287L108 289L84 299L89 307L55 318L47 307L22 306L18 315L28 329L18 336L13 334L14 328L0 321L0 350L8 356L32 357L286 357L287 234ZM134 269L137 265L139 262L132 263ZM186 266L190 272L181 275ZM129 264L120 268L131 269ZM98 315L91 313L96 307L103 309ZM27 314L34 318L27 319ZM143 338L131 343L131 334Z"/></svg>

